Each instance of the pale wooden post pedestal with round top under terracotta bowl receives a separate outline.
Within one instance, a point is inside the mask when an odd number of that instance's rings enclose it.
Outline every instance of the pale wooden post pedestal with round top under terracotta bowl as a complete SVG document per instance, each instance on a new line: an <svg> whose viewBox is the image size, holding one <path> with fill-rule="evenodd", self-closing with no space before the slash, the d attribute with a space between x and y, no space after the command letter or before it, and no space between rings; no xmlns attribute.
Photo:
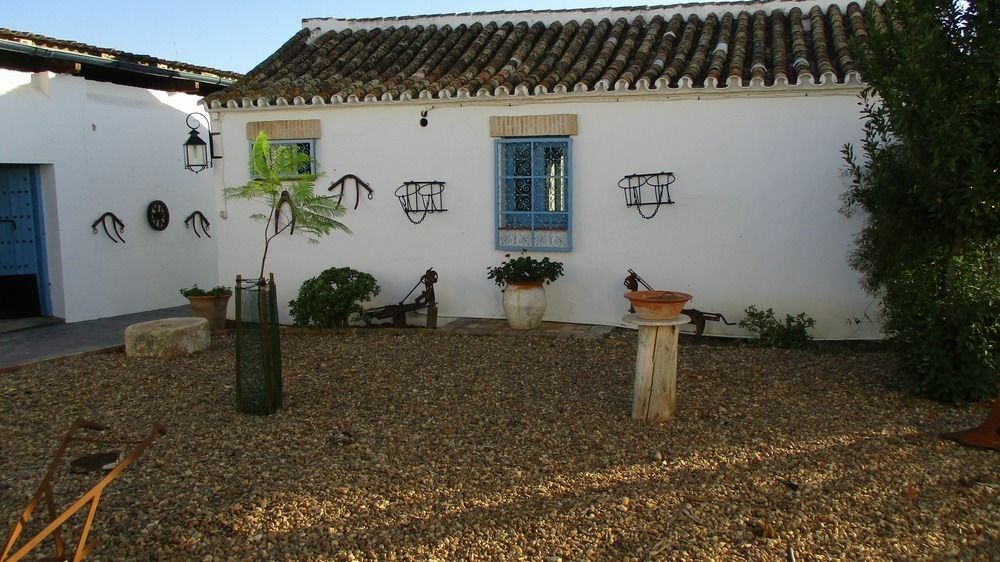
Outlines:
<svg viewBox="0 0 1000 562"><path fill-rule="evenodd" d="M644 320L636 314L627 314L622 320L639 326L632 419L650 423L667 421L677 411L678 327L691 319L681 314L670 320Z"/></svg>

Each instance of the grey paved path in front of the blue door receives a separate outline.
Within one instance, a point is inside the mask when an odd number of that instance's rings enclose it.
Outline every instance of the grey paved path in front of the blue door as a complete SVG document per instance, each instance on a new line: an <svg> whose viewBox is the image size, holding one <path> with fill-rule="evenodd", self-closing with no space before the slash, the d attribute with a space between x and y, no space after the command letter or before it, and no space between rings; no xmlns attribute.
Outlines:
<svg viewBox="0 0 1000 562"><path fill-rule="evenodd" d="M125 328L130 324L178 316L191 316L191 307L184 305L0 334L0 370L53 357L118 348L125 345Z"/></svg>

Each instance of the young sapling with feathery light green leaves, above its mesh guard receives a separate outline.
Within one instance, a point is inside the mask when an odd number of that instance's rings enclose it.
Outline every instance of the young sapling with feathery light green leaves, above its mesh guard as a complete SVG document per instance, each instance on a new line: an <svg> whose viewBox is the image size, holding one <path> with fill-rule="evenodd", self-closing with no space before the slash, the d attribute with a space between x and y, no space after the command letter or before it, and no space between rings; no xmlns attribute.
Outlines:
<svg viewBox="0 0 1000 562"><path fill-rule="evenodd" d="M254 140L250 155L253 179L248 183L227 187L226 199L245 199L263 203L267 213L254 213L252 220L264 223L264 253L260 260L260 278L264 277L267 251L271 241L285 232L296 230L306 234L310 243L333 230L350 229L336 219L344 215L344 207L334 198L313 193L316 176L301 175L309 157L295 147L271 146L267 135L260 133ZM287 215L286 215L287 213Z"/></svg>

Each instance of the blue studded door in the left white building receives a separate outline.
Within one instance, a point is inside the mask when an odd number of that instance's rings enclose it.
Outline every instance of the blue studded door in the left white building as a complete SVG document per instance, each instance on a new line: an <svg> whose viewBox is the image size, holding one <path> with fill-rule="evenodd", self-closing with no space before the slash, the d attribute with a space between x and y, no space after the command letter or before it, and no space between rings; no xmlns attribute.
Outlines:
<svg viewBox="0 0 1000 562"><path fill-rule="evenodd" d="M51 314L36 177L32 166L0 165L0 317Z"/></svg>

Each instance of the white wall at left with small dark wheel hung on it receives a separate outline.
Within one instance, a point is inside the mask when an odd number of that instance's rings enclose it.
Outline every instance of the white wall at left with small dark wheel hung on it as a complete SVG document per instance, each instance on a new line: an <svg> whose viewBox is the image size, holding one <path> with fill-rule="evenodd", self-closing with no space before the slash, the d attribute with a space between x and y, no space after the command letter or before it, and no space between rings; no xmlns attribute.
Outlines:
<svg viewBox="0 0 1000 562"><path fill-rule="evenodd" d="M178 289L218 279L216 244L184 219L201 210L213 227L211 171L183 167L185 116L197 96L0 70L0 163L39 165L53 313L68 322L177 306ZM157 232L146 207L162 200ZM91 224L105 211L125 222L125 244ZM213 232L214 235L214 232Z"/></svg>

